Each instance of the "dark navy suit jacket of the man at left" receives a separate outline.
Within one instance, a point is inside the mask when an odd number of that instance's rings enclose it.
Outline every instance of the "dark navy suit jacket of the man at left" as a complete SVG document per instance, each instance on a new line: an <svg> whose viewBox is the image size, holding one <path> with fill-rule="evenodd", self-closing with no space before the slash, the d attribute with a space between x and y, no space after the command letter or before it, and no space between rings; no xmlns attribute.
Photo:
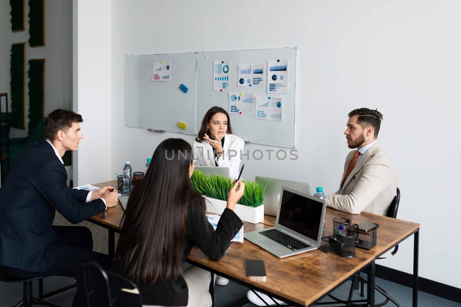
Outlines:
<svg viewBox="0 0 461 307"><path fill-rule="evenodd" d="M106 209L85 203L89 191L66 186L67 173L53 147L36 142L18 156L0 189L0 264L45 272L56 258L55 210L77 224Z"/></svg>

